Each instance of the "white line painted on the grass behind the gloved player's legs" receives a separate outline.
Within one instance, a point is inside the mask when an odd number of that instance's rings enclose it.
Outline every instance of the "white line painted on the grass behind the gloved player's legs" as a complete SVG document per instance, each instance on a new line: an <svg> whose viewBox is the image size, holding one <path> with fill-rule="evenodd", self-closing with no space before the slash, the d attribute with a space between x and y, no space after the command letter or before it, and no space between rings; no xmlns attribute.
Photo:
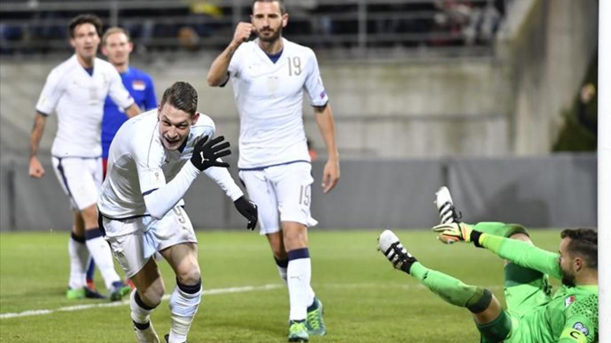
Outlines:
<svg viewBox="0 0 611 343"><path fill-rule="evenodd" d="M263 286L214 288L214 289L205 289L202 292L202 295L241 293L241 292L251 292L251 291L271 291L272 289L277 289L277 288L284 287L284 286L285 286L284 284L265 284ZM166 294L161 299L167 300L169 298L170 298L170 294ZM116 306L123 306L123 305L130 305L130 300L115 301L112 303L65 306L65 307L60 307L56 309L31 309L31 310L23 311L23 312L2 313L0 314L0 319L40 316L42 314L51 314L53 312L59 312L59 311L71 312L71 311L81 311L83 309L90 309L90 308L106 308L106 307L116 307Z"/></svg>

